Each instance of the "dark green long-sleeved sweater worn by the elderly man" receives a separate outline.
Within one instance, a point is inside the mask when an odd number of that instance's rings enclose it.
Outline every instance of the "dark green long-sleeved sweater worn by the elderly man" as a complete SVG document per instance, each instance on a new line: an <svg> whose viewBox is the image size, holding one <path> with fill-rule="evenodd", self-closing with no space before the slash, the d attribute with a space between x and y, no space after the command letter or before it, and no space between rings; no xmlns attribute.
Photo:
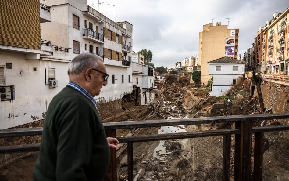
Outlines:
<svg viewBox="0 0 289 181"><path fill-rule="evenodd" d="M66 86L49 104L34 181L102 181L109 159L105 130L95 106Z"/></svg>

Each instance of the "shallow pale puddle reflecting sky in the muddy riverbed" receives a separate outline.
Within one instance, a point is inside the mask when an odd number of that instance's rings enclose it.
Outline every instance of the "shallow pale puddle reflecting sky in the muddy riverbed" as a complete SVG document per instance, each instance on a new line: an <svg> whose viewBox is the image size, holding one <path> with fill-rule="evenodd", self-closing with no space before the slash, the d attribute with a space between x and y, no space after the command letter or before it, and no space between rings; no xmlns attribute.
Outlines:
<svg viewBox="0 0 289 181"><path fill-rule="evenodd" d="M186 117L184 117L184 118L186 118ZM170 116L170 117L168 117L168 119L179 119L179 118L174 118L174 117ZM177 132L187 132L187 131L186 131L186 128L184 125L162 126L161 129L159 129L158 134L177 133ZM180 140L178 140L178 142L180 142L182 144L182 149L183 149L183 147L188 142L188 139L180 139ZM164 145L164 140L161 140L159 145L154 150L153 157L155 157L158 154L157 151L162 151L162 152L166 153L166 147L163 147L163 145Z"/></svg>

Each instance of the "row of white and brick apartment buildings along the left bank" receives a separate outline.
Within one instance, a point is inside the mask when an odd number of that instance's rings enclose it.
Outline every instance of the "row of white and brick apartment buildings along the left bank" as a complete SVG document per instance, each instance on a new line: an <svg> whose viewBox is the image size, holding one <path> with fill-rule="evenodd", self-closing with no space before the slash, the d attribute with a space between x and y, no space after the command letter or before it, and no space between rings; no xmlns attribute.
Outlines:
<svg viewBox="0 0 289 181"><path fill-rule="evenodd" d="M141 65L141 71L133 71L132 24L110 20L86 0L23 4L1 1L5 11L0 13L0 129L44 119L52 97L69 81L68 63L81 53L102 57L110 75L95 97L102 118L121 109L122 101L149 105L155 100L154 76L152 81L148 78L153 68Z"/></svg>

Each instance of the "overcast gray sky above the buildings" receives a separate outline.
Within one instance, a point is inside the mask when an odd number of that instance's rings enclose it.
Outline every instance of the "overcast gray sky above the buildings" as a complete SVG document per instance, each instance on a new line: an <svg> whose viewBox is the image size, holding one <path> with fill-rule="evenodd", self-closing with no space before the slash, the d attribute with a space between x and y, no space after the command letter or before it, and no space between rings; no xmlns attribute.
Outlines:
<svg viewBox="0 0 289 181"><path fill-rule="evenodd" d="M88 5L95 4L92 7L97 11L98 2L103 15L133 24L135 52L151 50L155 67L167 68L198 55L203 25L228 25L226 18L230 18L229 29L239 29L238 55L243 57L259 27L264 27L274 12L283 12L289 5L289 0L87 0Z"/></svg>

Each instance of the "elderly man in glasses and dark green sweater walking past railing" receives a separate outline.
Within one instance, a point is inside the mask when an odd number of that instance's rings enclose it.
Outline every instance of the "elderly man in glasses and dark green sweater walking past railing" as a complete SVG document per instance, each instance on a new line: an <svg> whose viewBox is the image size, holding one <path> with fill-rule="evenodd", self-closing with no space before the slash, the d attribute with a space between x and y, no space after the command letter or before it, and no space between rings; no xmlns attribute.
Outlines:
<svg viewBox="0 0 289 181"><path fill-rule="evenodd" d="M108 74L99 56L85 53L68 66L70 82L49 104L34 181L102 181L109 167L109 147L96 101Z"/></svg>

